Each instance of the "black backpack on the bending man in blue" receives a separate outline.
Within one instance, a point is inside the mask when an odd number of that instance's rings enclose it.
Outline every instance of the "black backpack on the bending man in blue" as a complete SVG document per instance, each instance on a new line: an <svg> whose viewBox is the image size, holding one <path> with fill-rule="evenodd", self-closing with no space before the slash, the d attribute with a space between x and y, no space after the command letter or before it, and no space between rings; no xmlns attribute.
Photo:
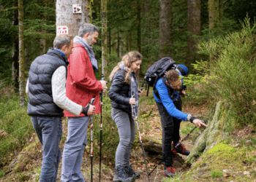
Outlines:
<svg viewBox="0 0 256 182"><path fill-rule="evenodd" d="M154 89L157 80L164 76L167 71L175 69L176 67L176 61L172 58L165 57L161 60L157 60L157 62L151 65L146 71L144 80L148 86L153 87Z"/></svg>

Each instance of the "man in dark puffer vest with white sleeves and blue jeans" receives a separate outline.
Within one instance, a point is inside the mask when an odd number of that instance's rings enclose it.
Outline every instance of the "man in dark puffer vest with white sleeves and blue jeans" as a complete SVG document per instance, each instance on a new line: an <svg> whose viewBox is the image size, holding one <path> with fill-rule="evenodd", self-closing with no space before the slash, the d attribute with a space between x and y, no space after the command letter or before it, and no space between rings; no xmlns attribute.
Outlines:
<svg viewBox="0 0 256 182"><path fill-rule="evenodd" d="M63 111L87 116L94 114L96 109L90 104L80 106L66 96L67 58L72 53L72 36L56 36L53 47L31 63L26 84L28 114L43 146L40 182L57 181Z"/></svg>

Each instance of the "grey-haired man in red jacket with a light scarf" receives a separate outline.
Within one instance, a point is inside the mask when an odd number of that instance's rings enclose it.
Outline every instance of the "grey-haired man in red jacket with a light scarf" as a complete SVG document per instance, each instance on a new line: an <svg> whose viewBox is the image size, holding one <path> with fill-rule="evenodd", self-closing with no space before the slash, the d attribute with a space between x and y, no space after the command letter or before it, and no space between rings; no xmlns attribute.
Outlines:
<svg viewBox="0 0 256 182"><path fill-rule="evenodd" d="M82 106L87 106L91 98L95 97L95 114L100 113L99 92L107 90L105 81L97 81L94 71L98 70L97 60L94 58L92 47L97 43L99 28L85 23L80 26L78 36L73 39L72 54L69 56L67 67L67 98ZM87 144L86 131L89 116L64 111L68 117L67 141L64 145L61 167L61 181L83 182L81 163L83 151Z"/></svg>

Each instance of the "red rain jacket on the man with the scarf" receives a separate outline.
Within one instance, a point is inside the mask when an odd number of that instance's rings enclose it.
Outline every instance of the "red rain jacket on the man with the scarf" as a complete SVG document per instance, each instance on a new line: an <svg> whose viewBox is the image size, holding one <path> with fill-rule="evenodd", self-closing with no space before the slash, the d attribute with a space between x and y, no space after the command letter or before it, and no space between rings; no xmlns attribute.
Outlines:
<svg viewBox="0 0 256 182"><path fill-rule="evenodd" d="M91 101L91 98L96 95L94 100L94 106L96 106L95 114L100 113L99 92L102 91L102 84L95 78L91 60L83 45L74 42L72 54L69 56L68 60L69 66L67 66L66 82L67 98L85 107ZM75 117L74 114L70 114L68 111L64 111L64 115ZM79 116L85 115L80 114Z"/></svg>

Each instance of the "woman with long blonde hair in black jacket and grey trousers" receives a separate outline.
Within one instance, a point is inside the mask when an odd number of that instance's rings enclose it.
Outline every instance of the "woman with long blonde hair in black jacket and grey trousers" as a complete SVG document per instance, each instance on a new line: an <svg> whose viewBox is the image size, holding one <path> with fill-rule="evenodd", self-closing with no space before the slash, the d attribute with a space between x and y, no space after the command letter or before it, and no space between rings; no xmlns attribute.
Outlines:
<svg viewBox="0 0 256 182"><path fill-rule="evenodd" d="M129 155L135 140L135 121L132 119L131 104L138 111L139 96L136 71L140 68L143 56L139 52L128 52L110 74L112 84L108 92L111 99L111 116L118 128L119 144L116 149L116 174L113 181L133 181L140 178L132 170ZM132 96L132 93L134 95Z"/></svg>

